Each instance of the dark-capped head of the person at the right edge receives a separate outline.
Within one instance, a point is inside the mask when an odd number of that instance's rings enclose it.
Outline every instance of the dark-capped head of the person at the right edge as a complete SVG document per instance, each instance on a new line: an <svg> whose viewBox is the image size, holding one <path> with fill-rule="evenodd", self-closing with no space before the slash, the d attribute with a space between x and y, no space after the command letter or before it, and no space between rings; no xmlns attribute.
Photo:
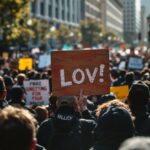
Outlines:
<svg viewBox="0 0 150 150"><path fill-rule="evenodd" d="M149 97L149 87L144 82L138 81L132 84L128 95L130 105L146 105L149 101Z"/></svg>

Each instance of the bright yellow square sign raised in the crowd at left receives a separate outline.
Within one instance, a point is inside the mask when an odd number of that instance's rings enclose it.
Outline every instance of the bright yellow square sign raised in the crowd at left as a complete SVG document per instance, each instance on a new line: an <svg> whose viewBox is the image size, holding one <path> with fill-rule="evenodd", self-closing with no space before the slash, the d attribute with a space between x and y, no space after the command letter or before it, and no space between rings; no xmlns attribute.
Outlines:
<svg viewBox="0 0 150 150"><path fill-rule="evenodd" d="M19 59L19 70L32 70L32 58L20 58Z"/></svg>

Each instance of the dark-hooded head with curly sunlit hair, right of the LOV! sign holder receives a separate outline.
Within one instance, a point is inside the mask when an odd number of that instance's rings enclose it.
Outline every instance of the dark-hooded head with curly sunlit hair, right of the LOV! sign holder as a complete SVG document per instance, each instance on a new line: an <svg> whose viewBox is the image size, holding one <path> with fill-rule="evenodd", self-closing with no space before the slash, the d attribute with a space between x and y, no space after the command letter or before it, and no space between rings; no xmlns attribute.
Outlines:
<svg viewBox="0 0 150 150"><path fill-rule="evenodd" d="M113 100L98 106L95 138L100 144L119 146L134 135L134 125L129 107Z"/></svg>

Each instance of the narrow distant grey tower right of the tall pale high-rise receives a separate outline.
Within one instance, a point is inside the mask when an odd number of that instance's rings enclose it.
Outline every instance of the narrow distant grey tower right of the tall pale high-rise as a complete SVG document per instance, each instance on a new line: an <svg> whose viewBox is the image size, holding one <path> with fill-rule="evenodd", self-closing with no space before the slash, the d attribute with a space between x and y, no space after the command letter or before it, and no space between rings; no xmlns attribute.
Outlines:
<svg viewBox="0 0 150 150"><path fill-rule="evenodd" d="M142 42L147 42L147 33L148 33L148 28L147 28L147 16L146 16L146 7L142 6L141 7L141 30L140 30L140 40Z"/></svg>

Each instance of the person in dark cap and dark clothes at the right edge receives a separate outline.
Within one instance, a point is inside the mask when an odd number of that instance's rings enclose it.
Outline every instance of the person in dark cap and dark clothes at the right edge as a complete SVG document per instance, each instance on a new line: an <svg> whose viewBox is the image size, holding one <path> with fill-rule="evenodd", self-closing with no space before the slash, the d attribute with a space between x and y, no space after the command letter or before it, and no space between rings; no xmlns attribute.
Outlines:
<svg viewBox="0 0 150 150"><path fill-rule="evenodd" d="M137 81L131 86L127 101L135 117L137 135L150 135L149 98L149 87L144 82Z"/></svg>

